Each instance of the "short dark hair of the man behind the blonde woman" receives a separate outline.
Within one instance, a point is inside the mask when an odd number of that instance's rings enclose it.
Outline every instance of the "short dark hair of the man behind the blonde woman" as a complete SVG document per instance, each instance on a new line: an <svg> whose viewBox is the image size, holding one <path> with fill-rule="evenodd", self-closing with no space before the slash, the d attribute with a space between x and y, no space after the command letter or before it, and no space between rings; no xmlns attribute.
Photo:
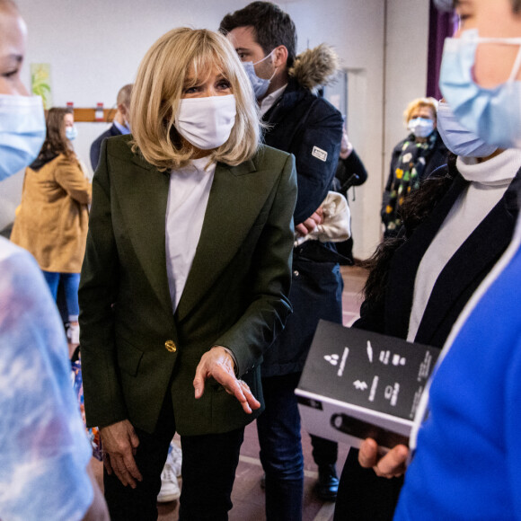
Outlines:
<svg viewBox="0 0 521 521"><path fill-rule="evenodd" d="M278 5L270 2L252 2L243 9L225 15L219 31L226 34L237 27L252 27L254 37L267 55L279 45L287 49L287 67L296 57L295 23Z"/></svg>

